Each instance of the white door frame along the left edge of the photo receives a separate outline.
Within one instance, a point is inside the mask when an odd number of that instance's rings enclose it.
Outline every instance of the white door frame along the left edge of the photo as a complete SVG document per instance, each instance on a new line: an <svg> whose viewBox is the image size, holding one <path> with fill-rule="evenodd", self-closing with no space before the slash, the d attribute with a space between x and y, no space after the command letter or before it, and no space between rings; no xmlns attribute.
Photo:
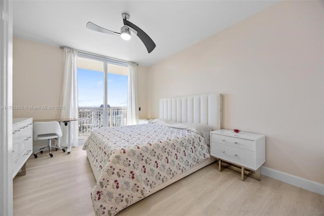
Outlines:
<svg viewBox="0 0 324 216"><path fill-rule="evenodd" d="M0 215L13 215L12 68L13 7L0 1Z"/></svg>

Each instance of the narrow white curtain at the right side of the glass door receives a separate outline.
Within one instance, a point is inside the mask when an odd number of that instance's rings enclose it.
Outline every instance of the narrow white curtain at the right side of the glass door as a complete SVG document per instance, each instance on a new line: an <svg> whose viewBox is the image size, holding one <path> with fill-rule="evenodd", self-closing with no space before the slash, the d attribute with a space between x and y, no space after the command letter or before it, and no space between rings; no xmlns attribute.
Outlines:
<svg viewBox="0 0 324 216"><path fill-rule="evenodd" d="M128 64L127 125L136 125L137 112L136 63Z"/></svg>

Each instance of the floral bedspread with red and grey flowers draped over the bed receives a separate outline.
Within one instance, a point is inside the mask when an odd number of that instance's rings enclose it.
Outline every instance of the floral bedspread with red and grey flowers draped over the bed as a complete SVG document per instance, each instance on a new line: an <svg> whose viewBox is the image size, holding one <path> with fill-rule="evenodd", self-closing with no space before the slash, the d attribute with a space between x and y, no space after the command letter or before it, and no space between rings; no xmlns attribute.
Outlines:
<svg viewBox="0 0 324 216"><path fill-rule="evenodd" d="M101 173L91 192L96 215L116 214L210 157L203 136L158 124L97 129L83 149Z"/></svg>

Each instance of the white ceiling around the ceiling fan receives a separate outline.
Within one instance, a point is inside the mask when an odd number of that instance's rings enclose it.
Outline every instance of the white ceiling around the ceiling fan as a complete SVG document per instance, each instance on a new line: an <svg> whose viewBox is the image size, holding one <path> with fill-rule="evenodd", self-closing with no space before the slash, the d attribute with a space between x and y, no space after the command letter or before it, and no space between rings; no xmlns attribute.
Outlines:
<svg viewBox="0 0 324 216"><path fill-rule="evenodd" d="M149 66L264 10L277 1L13 1L14 37L67 46ZM88 21L120 32L121 13L156 48L86 28Z"/></svg>

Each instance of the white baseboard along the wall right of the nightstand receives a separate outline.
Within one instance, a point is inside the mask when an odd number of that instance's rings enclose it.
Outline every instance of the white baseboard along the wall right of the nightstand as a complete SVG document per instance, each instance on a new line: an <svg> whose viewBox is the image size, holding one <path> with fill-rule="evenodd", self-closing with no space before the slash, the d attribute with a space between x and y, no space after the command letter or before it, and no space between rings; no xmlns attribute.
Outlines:
<svg viewBox="0 0 324 216"><path fill-rule="evenodd" d="M261 174L324 196L324 185L310 181L306 178L301 178L265 166L261 167Z"/></svg>

